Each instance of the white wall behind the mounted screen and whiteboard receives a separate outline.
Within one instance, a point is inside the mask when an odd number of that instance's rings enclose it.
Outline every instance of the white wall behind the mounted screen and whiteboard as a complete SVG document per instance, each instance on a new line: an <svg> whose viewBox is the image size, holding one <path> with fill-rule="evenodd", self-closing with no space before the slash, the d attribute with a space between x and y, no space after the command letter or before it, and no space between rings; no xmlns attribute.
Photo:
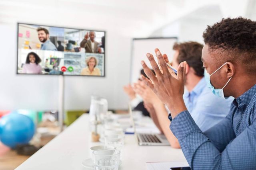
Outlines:
<svg viewBox="0 0 256 170"><path fill-rule="evenodd" d="M216 5L222 14L200 10ZM129 82L132 38L178 35L182 41L202 41L203 27L220 15L255 18L254 11L253 0L1 0L0 109L58 109L57 76L16 75L17 22L105 30L106 76L65 77L65 109L87 109L92 94L122 109L128 101L122 86Z"/></svg>

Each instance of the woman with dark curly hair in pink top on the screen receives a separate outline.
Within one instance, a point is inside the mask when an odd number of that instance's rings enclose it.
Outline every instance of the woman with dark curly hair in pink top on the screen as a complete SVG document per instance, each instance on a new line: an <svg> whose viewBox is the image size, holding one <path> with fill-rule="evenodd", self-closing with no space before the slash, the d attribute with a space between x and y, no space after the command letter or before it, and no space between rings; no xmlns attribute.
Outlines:
<svg viewBox="0 0 256 170"><path fill-rule="evenodd" d="M26 58L26 64L22 66L22 73L42 74L42 67L39 65L40 62L41 59L36 53L28 53Z"/></svg>

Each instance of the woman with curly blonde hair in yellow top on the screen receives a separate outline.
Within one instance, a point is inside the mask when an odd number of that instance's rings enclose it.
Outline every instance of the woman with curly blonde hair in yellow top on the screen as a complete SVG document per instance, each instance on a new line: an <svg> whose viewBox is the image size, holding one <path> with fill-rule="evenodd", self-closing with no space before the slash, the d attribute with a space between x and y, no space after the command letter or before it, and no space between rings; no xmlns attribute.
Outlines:
<svg viewBox="0 0 256 170"><path fill-rule="evenodd" d="M98 60L96 57L89 57L86 59L87 67L82 69L81 75L84 76L100 76L100 69L96 68Z"/></svg>

